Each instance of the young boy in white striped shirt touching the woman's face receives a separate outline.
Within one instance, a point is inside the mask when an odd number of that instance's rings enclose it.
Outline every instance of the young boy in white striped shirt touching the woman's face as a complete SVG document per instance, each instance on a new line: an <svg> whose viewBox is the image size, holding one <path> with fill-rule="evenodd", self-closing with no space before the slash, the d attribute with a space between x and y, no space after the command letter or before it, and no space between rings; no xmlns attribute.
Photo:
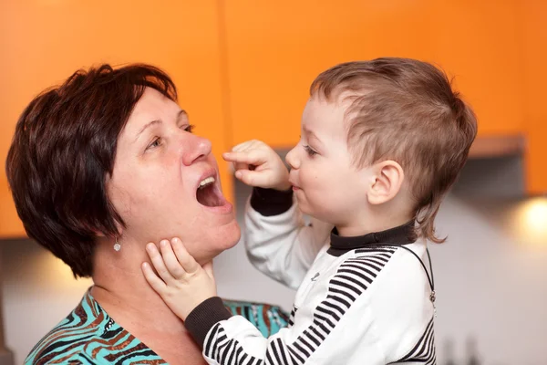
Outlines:
<svg viewBox="0 0 547 365"><path fill-rule="evenodd" d="M290 174L260 141L224 154L255 187L249 257L298 288L289 327L264 339L231 317L211 266L180 240L162 241L161 255L148 245L163 280L146 264L145 276L212 364L434 364L426 241L444 241L434 219L467 160L475 116L443 73L412 59L335 66L310 94L301 141L286 156Z"/></svg>

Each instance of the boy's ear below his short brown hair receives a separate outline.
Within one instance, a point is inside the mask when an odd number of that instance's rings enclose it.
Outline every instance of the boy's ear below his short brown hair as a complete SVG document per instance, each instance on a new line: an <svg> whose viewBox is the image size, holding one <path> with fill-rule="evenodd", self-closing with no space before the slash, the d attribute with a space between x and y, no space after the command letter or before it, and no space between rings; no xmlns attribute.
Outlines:
<svg viewBox="0 0 547 365"><path fill-rule="evenodd" d="M373 169L374 180L367 193L368 203L387 203L400 191L405 180L405 172L401 165L391 160L378 162Z"/></svg>

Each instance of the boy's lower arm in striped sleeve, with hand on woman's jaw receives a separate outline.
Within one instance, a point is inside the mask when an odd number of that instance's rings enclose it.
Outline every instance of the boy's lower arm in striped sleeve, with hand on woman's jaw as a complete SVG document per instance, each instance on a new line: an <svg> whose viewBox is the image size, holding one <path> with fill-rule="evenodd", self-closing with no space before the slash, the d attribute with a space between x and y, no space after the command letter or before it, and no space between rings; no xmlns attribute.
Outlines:
<svg viewBox="0 0 547 365"><path fill-rule="evenodd" d="M341 263L319 276L294 317L294 325L265 339L253 324L233 316L216 297L211 264L200 266L179 239L147 245L143 274L184 321L210 364L385 364L366 290L381 270L381 254ZM266 320L266 319L264 319ZM364 362L366 357L366 362Z"/></svg>

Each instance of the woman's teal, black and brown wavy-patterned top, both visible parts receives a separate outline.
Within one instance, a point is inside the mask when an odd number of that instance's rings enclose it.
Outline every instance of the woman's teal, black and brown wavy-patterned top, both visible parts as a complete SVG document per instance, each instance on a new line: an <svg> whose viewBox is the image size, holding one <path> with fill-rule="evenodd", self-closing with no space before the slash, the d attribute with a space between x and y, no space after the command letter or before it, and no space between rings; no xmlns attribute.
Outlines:
<svg viewBox="0 0 547 365"><path fill-rule="evenodd" d="M269 337L288 323L287 314L266 304L225 300ZM26 364L166 364L152 349L110 318L89 290L67 318L53 328L25 360Z"/></svg>

